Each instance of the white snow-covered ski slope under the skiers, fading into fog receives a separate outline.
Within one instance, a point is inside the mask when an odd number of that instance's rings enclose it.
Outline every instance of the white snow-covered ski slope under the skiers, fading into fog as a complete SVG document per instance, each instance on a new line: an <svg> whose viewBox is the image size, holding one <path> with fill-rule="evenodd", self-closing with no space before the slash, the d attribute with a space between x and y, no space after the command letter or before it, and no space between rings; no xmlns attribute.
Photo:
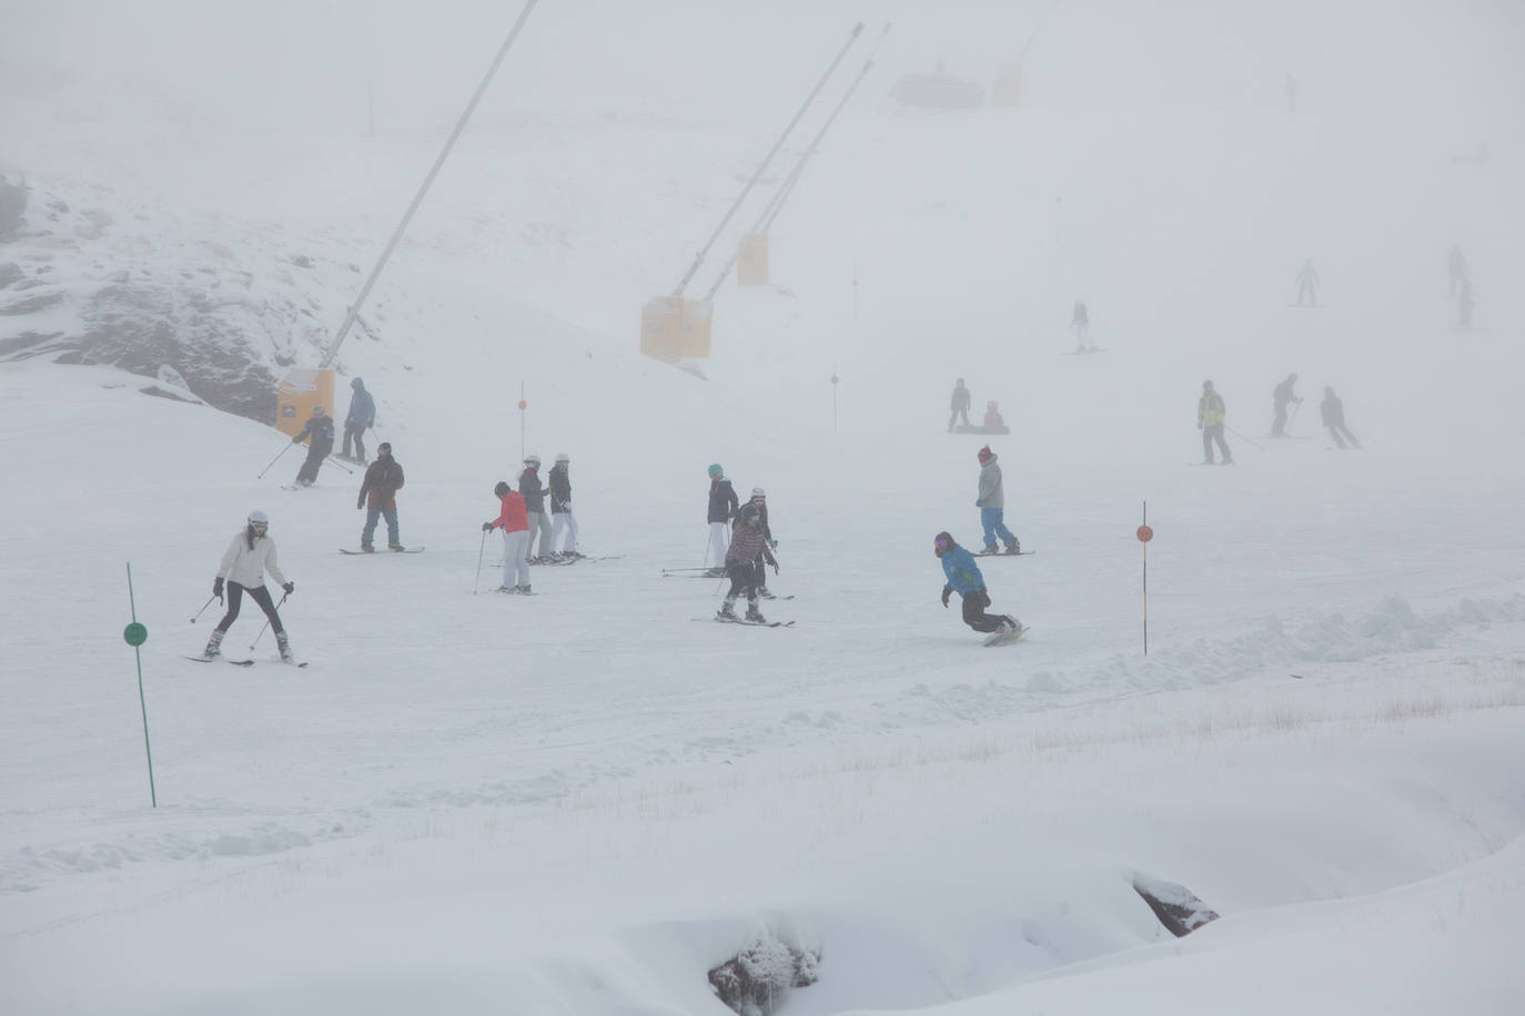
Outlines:
<svg viewBox="0 0 1525 1016"><path fill-rule="evenodd" d="M546 72L534 101L483 107L340 356L378 396L421 554L340 556L357 477L279 489L297 452L268 427L105 367L0 364L0 982L17 1011L714 1013L706 972L759 937L819 951L820 981L782 1010L805 1016L1502 1013L1525 993L1508 955L1525 932L1525 306L1505 286L1525 250L1519 120L1498 117L1522 91L1493 58L1517 18L1408 12L1371 41L1334 5L1327 53L1292 67L1289 117L1269 9L1211 27L1061 9L1029 101L926 116L881 96L959 32L900 5L884 75L779 221L778 285L721 291L708 381L645 359L640 305L851 21L817 6L689 11L666 44L724 27L691 70L735 59L750 78L682 110L615 58L657 47L660 24L621 15L621 40L580 23L587 8L547 12L525 55ZM256 35L340 29L293 11L273 5ZM1011 38L1037 18L1006 14ZM445 21L416 26L419 46ZM1475 41L1443 91L1491 81L1491 97L1446 119L1405 82L1408 107L1372 110L1339 59L1368 40L1385 73L1415 27L1438 55ZM1235 30L1238 49L1206 44ZM255 47L232 38L236 69ZM788 40L787 58L749 55ZM551 94L580 44L615 61L583 78L631 73L607 110ZM456 46L445 84L464 91L479 61ZM950 69L1000 50L950 49ZM526 81L512 67L505 90ZM268 331L250 353L268 369L337 326L459 102L413 96L429 129L336 137L314 126L332 93L282 107L299 91L282 82L258 131L185 91L180 120L136 111L128 129L127 91L66 102L85 84L5 101L35 128L8 163L37 207L70 209L50 257L29 248L34 291L204 276L203 294L239 294L218 321ZM676 70L666 87L692 91ZM1493 161L1453 163L1475 137ZM1472 332L1444 299L1458 241ZM1307 256L1319 311L1284 306ZM1077 297L1106 353L1063 355ZM24 317L6 338L43 321ZM1304 440L1267 442L1289 370ZM1037 551L985 562L996 609L1032 626L1002 650L938 605L932 535L979 541L985 439L944 433L956 376L1013 425L993 445ZM1234 469L1185 466L1205 376L1243 434ZM1360 452L1325 449L1325 384ZM572 455L583 550L621 554L537 568L535 599L488 593L499 544L480 533L522 451ZM796 599L766 609L793 629L711 625L720 586L662 576L705 562L711 462L769 492L773 585ZM246 650L249 605L226 644L252 669L181 660L253 507L296 580L282 615L303 670L271 663L268 634ZM157 809L120 638L128 564ZM1168 938L1139 874L1223 917Z"/></svg>

